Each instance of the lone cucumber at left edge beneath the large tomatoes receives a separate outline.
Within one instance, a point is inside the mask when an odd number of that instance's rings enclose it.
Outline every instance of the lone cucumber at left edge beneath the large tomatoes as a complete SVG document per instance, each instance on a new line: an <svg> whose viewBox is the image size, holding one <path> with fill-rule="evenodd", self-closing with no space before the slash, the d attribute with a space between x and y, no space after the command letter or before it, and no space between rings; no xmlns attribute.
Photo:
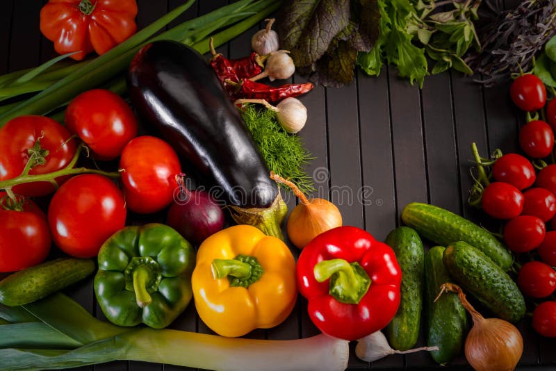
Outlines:
<svg viewBox="0 0 556 371"><path fill-rule="evenodd" d="M94 271L94 261L79 258L58 258L20 270L0 281L0 303L17 306L35 302Z"/></svg>

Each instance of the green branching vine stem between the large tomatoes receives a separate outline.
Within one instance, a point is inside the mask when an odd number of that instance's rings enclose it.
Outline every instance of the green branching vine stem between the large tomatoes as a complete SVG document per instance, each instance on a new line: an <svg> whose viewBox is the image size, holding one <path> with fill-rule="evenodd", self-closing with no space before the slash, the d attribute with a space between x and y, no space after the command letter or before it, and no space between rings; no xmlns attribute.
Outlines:
<svg viewBox="0 0 556 371"><path fill-rule="evenodd" d="M24 172L22 172L21 175L15 178L7 179L5 181L0 181L0 189L6 190L6 193L10 196L10 198L13 198L11 195L14 194L11 188L14 186L19 186L19 184L24 184L24 183L32 183L35 181L49 181L55 184L57 188L58 183L56 183L55 179L58 178L59 176L76 175L76 174L100 174L100 175L108 176L110 178L120 177L119 172L104 172L102 170L88 169L87 167L74 167L75 164L77 163L77 160L79 159L79 154L81 154L82 148L83 146L81 145L77 147L77 150L75 151L72 161L69 164L67 164L67 166L64 167L63 169L57 170L56 172L49 172L47 174L34 174L34 175L25 174L25 170L24 170Z"/></svg>

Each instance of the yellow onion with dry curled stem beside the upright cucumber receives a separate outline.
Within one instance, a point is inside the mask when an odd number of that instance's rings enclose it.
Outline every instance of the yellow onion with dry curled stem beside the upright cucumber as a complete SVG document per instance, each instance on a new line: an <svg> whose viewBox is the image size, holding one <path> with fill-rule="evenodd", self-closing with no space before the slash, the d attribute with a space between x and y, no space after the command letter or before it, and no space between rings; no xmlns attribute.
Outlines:
<svg viewBox="0 0 556 371"><path fill-rule="evenodd" d="M469 304L464 292L454 283L444 283L441 292L457 292L459 301L473 318L465 340L465 358L477 371L510 371L523 353L523 338L511 323L499 318L484 318Z"/></svg>

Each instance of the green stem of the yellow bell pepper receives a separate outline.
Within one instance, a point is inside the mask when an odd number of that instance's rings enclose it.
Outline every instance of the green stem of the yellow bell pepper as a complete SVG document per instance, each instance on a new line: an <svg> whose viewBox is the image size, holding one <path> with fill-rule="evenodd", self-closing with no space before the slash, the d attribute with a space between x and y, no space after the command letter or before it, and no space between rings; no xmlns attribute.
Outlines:
<svg viewBox="0 0 556 371"><path fill-rule="evenodd" d="M248 288L259 281L263 275L263 266L250 255L238 255L233 259L214 259L212 262L214 279L228 277L231 287Z"/></svg>

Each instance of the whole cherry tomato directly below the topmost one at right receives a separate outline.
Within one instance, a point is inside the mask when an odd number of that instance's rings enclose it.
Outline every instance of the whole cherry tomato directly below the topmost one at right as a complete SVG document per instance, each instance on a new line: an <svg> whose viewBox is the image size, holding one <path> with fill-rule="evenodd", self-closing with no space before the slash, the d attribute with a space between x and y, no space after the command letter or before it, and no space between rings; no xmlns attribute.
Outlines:
<svg viewBox="0 0 556 371"><path fill-rule="evenodd" d="M519 131L519 145L530 157L546 157L554 148L554 132L546 122L530 121Z"/></svg>

